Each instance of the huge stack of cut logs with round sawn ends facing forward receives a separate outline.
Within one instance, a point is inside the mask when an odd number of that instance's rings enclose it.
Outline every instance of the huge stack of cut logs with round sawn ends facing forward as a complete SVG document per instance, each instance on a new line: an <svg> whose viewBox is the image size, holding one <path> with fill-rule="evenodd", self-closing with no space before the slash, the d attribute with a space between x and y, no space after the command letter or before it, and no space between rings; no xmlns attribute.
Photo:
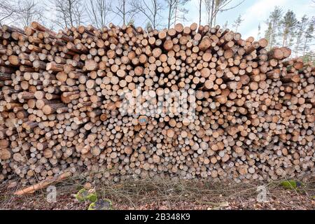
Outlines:
<svg viewBox="0 0 315 224"><path fill-rule="evenodd" d="M103 181L314 172L315 68L266 47L195 23L3 25L0 182L34 184L65 169ZM161 104L172 92L182 101Z"/></svg>

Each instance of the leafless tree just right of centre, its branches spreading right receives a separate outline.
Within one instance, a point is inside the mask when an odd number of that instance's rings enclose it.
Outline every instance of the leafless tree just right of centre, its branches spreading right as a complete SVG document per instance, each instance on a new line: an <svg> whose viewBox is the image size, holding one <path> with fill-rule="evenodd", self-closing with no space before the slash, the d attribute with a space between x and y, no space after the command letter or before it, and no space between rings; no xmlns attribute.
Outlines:
<svg viewBox="0 0 315 224"><path fill-rule="evenodd" d="M190 0L167 0L168 18L167 28L176 24L177 20L186 20L185 15L188 10L185 8L186 3Z"/></svg>

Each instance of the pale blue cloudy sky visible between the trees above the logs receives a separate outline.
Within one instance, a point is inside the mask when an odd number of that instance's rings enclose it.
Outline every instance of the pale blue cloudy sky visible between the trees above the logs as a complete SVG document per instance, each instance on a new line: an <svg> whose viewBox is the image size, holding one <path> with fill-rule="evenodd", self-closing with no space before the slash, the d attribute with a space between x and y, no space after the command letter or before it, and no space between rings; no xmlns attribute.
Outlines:
<svg viewBox="0 0 315 224"><path fill-rule="evenodd" d="M17 0L19 1L19 0ZM40 4L50 5L53 6L53 1L51 0L35 0ZM83 0L87 1L87 0ZM109 0L110 1L110 0ZM135 1L135 0L132 0ZM147 0L150 1L150 0ZM167 6L165 0L160 0L165 7L165 10L162 13L162 24L164 27L167 27ZM229 6L235 6L241 0L233 0ZM117 0L112 0L113 5ZM315 3L311 0L244 0L240 6L234 8L232 10L228 10L218 15L216 24L217 25L224 25L226 21L228 21L228 28L232 27L233 22L237 19L239 15L242 16L244 20L241 22L241 26L237 30L240 34L242 34L243 38L247 38L248 36L253 36L257 38L258 36L258 25L261 25L261 36L264 35L265 29L267 25L265 21L267 20L269 13L274 9L275 6L280 6L283 8L283 12L287 10L293 10L297 15L297 19L300 20L302 16L305 14L309 18L315 16ZM53 8L53 7L52 7ZM184 25L190 25L193 22L197 22L199 20L199 0L190 0L186 4L186 9L189 10L186 13L187 21L180 21ZM202 24L207 24L207 13L205 10L205 6L203 5L202 10ZM46 11L45 17L46 18L53 18L55 12L53 10ZM136 26L145 27L146 26L146 18L139 14L135 18ZM109 17L109 22L113 22L116 25L121 25L122 20L118 18L117 15L111 15Z"/></svg>

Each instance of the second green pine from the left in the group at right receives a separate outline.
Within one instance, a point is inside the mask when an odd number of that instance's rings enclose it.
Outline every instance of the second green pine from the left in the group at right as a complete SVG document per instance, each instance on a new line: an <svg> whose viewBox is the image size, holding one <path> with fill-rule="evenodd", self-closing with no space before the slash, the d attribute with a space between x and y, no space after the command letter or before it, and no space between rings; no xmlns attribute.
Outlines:
<svg viewBox="0 0 315 224"><path fill-rule="evenodd" d="M288 10L281 20L282 46L290 47L291 38L295 35L297 19L293 10Z"/></svg>

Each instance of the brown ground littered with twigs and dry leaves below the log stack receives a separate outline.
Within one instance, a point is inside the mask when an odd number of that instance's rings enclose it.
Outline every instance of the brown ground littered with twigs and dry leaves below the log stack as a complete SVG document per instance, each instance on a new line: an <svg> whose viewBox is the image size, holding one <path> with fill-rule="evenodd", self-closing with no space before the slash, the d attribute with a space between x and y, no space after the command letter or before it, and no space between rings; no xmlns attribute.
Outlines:
<svg viewBox="0 0 315 224"><path fill-rule="evenodd" d="M267 189L267 202L258 202L258 186ZM57 202L46 200L45 189L31 195L15 196L18 182L0 185L0 209L86 210L87 202L78 202L74 195L83 188L81 180L57 183ZM303 179L302 186L289 190L281 181L272 183L211 183L211 181L140 180L104 185L91 185L99 198L111 200L113 209L315 209L315 179Z"/></svg>

